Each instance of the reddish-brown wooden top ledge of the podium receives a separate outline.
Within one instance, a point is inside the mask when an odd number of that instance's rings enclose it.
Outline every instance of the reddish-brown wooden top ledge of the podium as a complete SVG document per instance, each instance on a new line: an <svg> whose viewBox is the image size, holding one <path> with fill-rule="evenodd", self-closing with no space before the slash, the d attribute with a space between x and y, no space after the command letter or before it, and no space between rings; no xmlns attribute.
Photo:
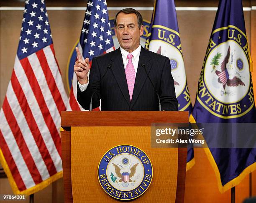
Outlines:
<svg viewBox="0 0 256 203"><path fill-rule="evenodd" d="M116 117L113 115L118 115L119 120L117 120ZM69 127L71 126L151 126L152 120L154 120L155 123L187 123L188 112L61 112L61 127L67 130L70 130Z"/></svg>

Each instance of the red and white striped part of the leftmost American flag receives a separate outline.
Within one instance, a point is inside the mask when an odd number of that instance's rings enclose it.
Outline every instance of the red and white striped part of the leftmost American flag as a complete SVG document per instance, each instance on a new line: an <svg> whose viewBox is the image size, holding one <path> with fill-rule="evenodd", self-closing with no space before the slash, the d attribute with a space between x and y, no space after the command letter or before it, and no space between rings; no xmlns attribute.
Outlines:
<svg viewBox="0 0 256 203"><path fill-rule="evenodd" d="M0 148L19 191L62 170L60 111L65 104L52 45L21 60L16 56L0 111Z"/></svg>

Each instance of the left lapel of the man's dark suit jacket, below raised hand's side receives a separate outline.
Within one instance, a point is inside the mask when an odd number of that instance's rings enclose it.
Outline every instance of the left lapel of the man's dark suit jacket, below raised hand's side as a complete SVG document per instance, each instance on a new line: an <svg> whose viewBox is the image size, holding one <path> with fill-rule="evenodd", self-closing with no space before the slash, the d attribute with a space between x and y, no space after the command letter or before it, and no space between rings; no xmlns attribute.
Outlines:
<svg viewBox="0 0 256 203"><path fill-rule="evenodd" d="M113 56L110 58L111 61L113 61L113 66L111 67L111 70L113 72L113 75L115 77L115 80L117 81L123 96L125 97L125 100L130 105L130 95L127 85L127 80L125 76L125 69L123 66L123 58L120 51L120 48L118 48L115 53L113 53Z"/></svg>

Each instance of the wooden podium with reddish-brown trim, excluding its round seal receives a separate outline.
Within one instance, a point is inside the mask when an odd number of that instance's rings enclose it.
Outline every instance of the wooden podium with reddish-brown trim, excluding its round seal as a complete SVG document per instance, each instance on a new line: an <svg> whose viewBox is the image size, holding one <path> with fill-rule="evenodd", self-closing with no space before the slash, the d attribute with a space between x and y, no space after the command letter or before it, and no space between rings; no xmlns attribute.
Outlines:
<svg viewBox="0 0 256 203"><path fill-rule="evenodd" d="M152 123L187 123L188 112L61 112L65 203L118 202L105 193L97 168L117 145L134 145L148 155L154 174L137 202L184 202L186 148L151 148Z"/></svg>

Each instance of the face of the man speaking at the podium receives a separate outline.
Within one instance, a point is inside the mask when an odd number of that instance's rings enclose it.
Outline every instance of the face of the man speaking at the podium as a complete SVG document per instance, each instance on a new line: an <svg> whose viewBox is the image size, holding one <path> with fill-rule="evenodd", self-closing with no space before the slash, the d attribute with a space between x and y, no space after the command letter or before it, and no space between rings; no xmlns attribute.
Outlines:
<svg viewBox="0 0 256 203"><path fill-rule="evenodd" d="M140 46L140 37L143 34L143 25L138 28L137 15L135 13L119 13L116 19L115 36L118 38L120 46L133 52Z"/></svg>

